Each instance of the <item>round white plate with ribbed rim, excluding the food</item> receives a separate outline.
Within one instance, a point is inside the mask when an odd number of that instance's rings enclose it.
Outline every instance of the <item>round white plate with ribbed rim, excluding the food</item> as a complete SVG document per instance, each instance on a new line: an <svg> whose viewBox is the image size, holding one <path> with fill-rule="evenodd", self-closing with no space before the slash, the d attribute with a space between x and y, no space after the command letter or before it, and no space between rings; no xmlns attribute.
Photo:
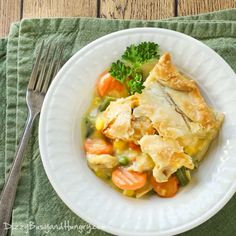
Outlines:
<svg viewBox="0 0 236 236"><path fill-rule="evenodd" d="M174 198L122 196L87 167L81 119L95 80L132 43L153 41L169 51L175 65L194 78L211 105L225 113L220 135L191 183ZM57 194L78 216L117 235L173 235L203 223L235 193L236 76L203 43L156 28L122 30L78 51L63 66L45 98L39 144L47 176Z"/></svg>

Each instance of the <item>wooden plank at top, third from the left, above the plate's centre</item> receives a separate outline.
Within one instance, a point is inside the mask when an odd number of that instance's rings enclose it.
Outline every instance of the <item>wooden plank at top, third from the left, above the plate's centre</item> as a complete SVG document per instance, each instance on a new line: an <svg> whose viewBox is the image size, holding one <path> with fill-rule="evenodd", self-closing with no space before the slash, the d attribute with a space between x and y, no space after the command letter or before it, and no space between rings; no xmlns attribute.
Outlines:
<svg viewBox="0 0 236 236"><path fill-rule="evenodd" d="M175 0L101 0L100 16L113 19L155 20L175 14Z"/></svg>

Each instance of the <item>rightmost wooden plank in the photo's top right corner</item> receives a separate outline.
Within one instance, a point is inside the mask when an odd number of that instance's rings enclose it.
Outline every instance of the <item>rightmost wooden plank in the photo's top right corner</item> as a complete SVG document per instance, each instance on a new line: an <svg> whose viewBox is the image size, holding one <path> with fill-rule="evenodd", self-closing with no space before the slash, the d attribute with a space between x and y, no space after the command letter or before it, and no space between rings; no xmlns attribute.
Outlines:
<svg viewBox="0 0 236 236"><path fill-rule="evenodd" d="M236 0L178 0L178 15L186 16L236 7Z"/></svg>

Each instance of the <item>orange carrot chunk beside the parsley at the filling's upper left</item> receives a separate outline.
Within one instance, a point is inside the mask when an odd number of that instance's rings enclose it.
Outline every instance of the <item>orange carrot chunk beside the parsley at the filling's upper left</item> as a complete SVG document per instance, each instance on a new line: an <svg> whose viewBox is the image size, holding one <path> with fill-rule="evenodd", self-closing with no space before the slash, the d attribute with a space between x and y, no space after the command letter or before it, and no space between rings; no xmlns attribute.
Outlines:
<svg viewBox="0 0 236 236"><path fill-rule="evenodd" d="M125 87L118 80L113 78L107 71L104 71L97 84L98 93L100 96L109 95L112 91L123 92Z"/></svg>

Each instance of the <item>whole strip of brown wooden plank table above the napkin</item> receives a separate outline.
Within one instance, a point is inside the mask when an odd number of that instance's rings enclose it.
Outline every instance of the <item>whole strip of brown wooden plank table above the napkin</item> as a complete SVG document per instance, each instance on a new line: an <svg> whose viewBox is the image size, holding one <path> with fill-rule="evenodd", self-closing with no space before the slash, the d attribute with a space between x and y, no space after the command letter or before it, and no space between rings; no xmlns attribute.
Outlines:
<svg viewBox="0 0 236 236"><path fill-rule="evenodd" d="M235 8L236 0L0 0L0 37L22 18L91 16L156 20Z"/></svg>

